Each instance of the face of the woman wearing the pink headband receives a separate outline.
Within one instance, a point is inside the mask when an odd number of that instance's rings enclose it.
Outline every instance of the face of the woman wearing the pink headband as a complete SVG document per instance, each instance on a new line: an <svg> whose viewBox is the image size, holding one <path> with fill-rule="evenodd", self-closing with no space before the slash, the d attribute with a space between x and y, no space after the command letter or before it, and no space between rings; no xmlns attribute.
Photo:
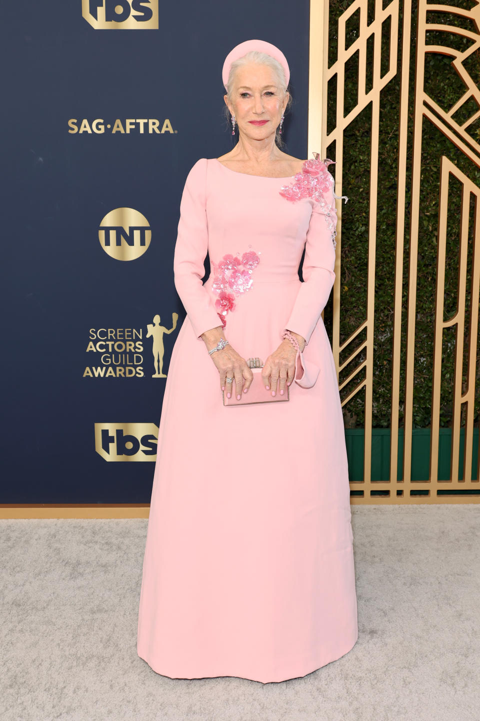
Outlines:
<svg viewBox="0 0 480 721"><path fill-rule="evenodd" d="M224 97L228 109L235 115L239 133L245 133L253 140L263 140L275 135L289 100L289 93L282 92L272 68L248 63L238 68L235 73L232 104L228 102L227 95ZM252 120L267 122L255 125Z"/></svg>

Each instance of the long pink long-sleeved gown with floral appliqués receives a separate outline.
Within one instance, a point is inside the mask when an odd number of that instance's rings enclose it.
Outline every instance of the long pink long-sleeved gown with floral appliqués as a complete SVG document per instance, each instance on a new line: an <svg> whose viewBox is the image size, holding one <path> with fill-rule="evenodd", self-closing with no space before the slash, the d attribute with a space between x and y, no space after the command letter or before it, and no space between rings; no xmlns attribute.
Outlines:
<svg viewBox="0 0 480 721"><path fill-rule="evenodd" d="M329 181L316 195L315 173ZM163 399L137 637L163 676L284 681L358 638L343 415L321 317L335 280L335 198L317 160L273 178L202 158L186 179L174 275L187 316ZM307 340L289 401L223 405L200 337L222 311L245 359L266 361L284 328Z"/></svg>

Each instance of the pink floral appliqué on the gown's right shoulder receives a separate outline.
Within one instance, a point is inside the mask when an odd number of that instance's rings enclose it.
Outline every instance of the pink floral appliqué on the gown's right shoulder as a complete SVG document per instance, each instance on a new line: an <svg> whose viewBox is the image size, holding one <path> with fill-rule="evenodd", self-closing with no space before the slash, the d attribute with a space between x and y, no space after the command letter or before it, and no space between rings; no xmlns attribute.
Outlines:
<svg viewBox="0 0 480 721"><path fill-rule="evenodd" d="M327 190L332 189L333 197L342 200L345 198L347 203L348 198L346 195L337 195L335 193L335 180L333 179L327 167L330 164L335 164L335 160L326 158L320 160L320 154L314 153L313 160L306 160L302 165L302 172L296 173L293 178L294 182L290 185L282 185L280 195L286 200L291 200L295 203L297 200L302 198L312 198L315 203L319 203L320 208L325 213L325 220L327 221L328 229L332 236L333 247L337 247L335 236L337 235L337 209L335 205L329 205L325 200L323 193Z"/></svg>

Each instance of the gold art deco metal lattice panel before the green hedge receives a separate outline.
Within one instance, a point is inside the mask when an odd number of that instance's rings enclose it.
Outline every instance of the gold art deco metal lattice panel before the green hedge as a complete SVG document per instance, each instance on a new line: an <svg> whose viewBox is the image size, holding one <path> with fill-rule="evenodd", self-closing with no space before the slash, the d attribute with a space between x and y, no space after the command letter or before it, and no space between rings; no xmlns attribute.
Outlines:
<svg viewBox="0 0 480 721"><path fill-rule="evenodd" d="M412 480L412 431L413 431L413 400L415 371L415 319L417 314L417 283L422 277L417 273L419 257L419 222L420 222L420 180L422 177L422 127L424 122L432 123L451 143L466 156L476 167L480 167L480 145L477 136L472 133L474 123L480 118L480 91L476 82L469 74L468 61L479 56L480 48L480 5L466 10L456 6L428 4L419 0L416 11L417 35L412 35L412 16L415 15L411 0L400 6L399 0L383 6L381 0L372 4L373 19L368 22L368 0L355 0L338 18L335 32L338 37L338 52L335 61L328 66L329 52L329 19L330 6L328 0L312 0L310 5L310 75L309 75L309 157L313 151L320 151L322 158L335 159L335 190L343 195L343 156L345 129L367 107L371 106L371 141L370 167L371 177L368 198L368 271L366 285L366 314L354 332L340 342L340 311L348 312L348 304L341 305L340 267L342 262L342 213L354 212L350 207L344 209L341 200L337 200L337 260L335 266L335 285L332 293L332 351L337 367L339 389L345 392L343 407L356 397L359 392L364 394L365 403L365 440L363 456L363 481L350 481L350 490L361 495L353 495L352 503L476 503L480 501L479 462L476 473L472 468L474 451L474 399L479 389L479 287L480 287L480 188L471 178L467 177L447 156L440 156L438 177L438 228L437 244L437 275L435 327L433 328L433 378L431 399L430 425L430 473L427 481ZM354 14L358 13L358 35L347 47L346 27ZM442 19L458 17L463 19L463 26L449 25L448 22L434 22L438 14ZM399 34L399 22L402 15L402 37ZM468 30L468 27L474 30ZM389 33L386 43L389 49L388 68L381 74L382 33ZM445 44L427 44L429 33L439 35ZM442 35L443 34L443 35ZM459 45L462 50L450 47L451 37L466 38L468 43ZM367 61L368 42L373 40L373 60L371 67ZM410 46L415 45L415 89L409 89ZM454 45L453 42L451 42ZM464 92L452 107L445 110L425 90L425 63L429 53L440 53L450 58L451 66L461 79ZM345 107L345 68L354 56L358 57L358 97L354 107L344 116ZM479 63L477 63L479 66ZM394 265L394 300L392 315L392 356L391 356L391 433L389 479L372 481L372 403L373 403L373 368L374 368L374 317L376 288L376 247L377 247L377 198L379 195L379 123L381 112L381 91L391 79L401 73L399 81L399 137L398 137L398 177L397 177L397 215ZM367 90L368 82L370 87ZM480 70L477 79L480 78ZM327 130L327 88L329 82L336 79L335 123ZM412 97L413 96L413 97ZM408 161L408 123L409 104L413 101L412 118L412 165ZM472 108L470 111L469 109ZM468 109L468 113L459 110ZM458 121L462 115L462 122ZM321 118L321 123L318 119ZM330 126L332 124L330 123ZM335 156L330 153L335 149ZM472 166L473 167L473 166ZM407 219L406 195L407 180L411 173L411 205L409 208L409 227ZM346 176L345 176L346 177ZM445 252L447 239L448 211L458 212L453 203L449 203L449 187L451 179L461 185L461 232L458 239L458 288L457 308L453 317L444 319L443 298L445 292L445 274L448 274L447 256ZM478 178L478 176L477 176ZM473 226L470 222L470 207L474 203ZM408 242L404 241L407 234ZM468 271L467 256L471 252L471 268ZM405 255L408 260L407 278L404 278ZM468 275L469 273L469 275ZM466 302L467 275L470 282L470 303ZM407 287L407 307L402 302L402 288ZM402 350L402 322L406 327L404 357ZM440 435L440 380L442 377L443 334L445 329L456 329L455 371L453 378L453 407L451 423L450 448L450 479L438 478L438 454ZM466 347L464 347L465 331L468 329ZM365 340L363 340L363 338ZM358 345L356 345L358 343ZM466 368L463 356L467 354ZM360 358L358 356L360 355ZM345 358L346 356L346 358ZM364 360L361 360L361 358ZM340 361L340 358L345 360ZM462 382L463 372L466 383ZM340 382L340 374L345 377ZM363 376L363 378L362 378ZM404 381L404 397L400 398L401 377ZM357 384L349 391L351 381ZM353 384L351 384L353 386ZM399 478L399 404L404 402L404 443L402 478ZM461 446L461 420L463 419L463 447ZM477 429L478 431L478 423ZM475 441L478 443L478 440ZM463 454L463 456L461 456ZM480 453L477 454L477 459ZM463 477L458 477L459 461L463 460ZM474 475L476 477L474 477ZM446 492L445 492L446 490ZM458 490L465 495L456 495ZM422 493L423 495L418 495ZM449 495L450 492L450 495Z"/></svg>

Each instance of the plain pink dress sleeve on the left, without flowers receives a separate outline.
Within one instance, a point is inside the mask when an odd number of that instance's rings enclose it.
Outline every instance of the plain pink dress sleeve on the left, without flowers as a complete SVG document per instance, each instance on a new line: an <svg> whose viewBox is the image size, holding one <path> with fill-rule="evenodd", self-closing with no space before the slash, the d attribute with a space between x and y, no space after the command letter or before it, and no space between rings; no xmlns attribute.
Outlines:
<svg viewBox="0 0 480 721"><path fill-rule="evenodd" d="M206 183L207 159L201 158L186 178L173 255L176 291L196 337L222 325L212 298L201 282L205 275L204 260L208 252Z"/></svg>

